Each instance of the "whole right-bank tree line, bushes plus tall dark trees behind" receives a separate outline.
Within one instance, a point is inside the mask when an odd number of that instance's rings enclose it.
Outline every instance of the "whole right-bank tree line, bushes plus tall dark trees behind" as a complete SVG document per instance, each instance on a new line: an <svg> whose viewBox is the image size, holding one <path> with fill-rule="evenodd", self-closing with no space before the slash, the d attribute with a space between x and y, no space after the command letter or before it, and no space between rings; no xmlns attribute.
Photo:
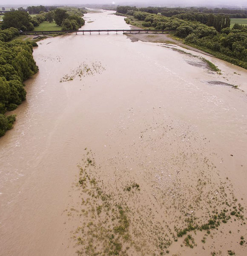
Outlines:
<svg viewBox="0 0 247 256"><path fill-rule="evenodd" d="M175 30L173 36L184 44L247 69L247 26L236 23L230 28L230 15L184 11L167 17L151 10L120 6L117 15L134 26Z"/></svg>

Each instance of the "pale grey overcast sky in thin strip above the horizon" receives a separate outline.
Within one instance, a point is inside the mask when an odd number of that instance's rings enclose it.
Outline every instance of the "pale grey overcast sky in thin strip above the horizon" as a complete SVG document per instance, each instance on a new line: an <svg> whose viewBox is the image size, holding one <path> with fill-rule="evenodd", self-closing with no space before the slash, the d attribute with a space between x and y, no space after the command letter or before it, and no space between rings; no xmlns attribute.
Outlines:
<svg viewBox="0 0 247 256"><path fill-rule="evenodd" d="M11 6L11 5L72 5L72 4L112 4L115 3L116 5L124 4L138 4L140 5L143 3L144 5L149 6L245 6L247 7L247 0L0 0L0 6Z"/></svg>

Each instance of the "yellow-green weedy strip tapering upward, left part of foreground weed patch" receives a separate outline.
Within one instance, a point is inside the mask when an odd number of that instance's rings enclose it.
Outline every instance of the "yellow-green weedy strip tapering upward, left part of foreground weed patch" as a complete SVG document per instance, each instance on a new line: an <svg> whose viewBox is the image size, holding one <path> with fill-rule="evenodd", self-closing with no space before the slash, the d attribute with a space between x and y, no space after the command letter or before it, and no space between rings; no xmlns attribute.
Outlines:
<svg viewBox="0 0 247 256"><path fill-rule="evenodd" d="M87 156L89 154L90 152ZM80 167L78 186L81 188L82 205L85 207L82 215L87 222L78 228L74 236L77 245L80 246L77 253L78 255L92 255L92 253L109 256L121 253L125 255L127 248L132 246L128 208L115 204L111 195L107 195L95 177L92 177L90 168L95 167L92 155L86 157L83 166ZM96 241L101 246L96 247Z"/></svg>

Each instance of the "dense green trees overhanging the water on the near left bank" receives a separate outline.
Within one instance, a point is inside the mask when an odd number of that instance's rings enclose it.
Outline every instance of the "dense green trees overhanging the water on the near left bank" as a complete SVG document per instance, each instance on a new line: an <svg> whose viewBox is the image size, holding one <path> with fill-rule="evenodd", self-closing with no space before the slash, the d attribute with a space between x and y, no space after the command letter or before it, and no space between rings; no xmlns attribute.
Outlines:
<svg viewBox="0 0 247 256"><path fill-rule="evenodd" d="M0 31L0 137L12 128L15 115L5 116L26 99L23 82L38 71L32 52L34 41L13 40L15 28Z"/></svg>

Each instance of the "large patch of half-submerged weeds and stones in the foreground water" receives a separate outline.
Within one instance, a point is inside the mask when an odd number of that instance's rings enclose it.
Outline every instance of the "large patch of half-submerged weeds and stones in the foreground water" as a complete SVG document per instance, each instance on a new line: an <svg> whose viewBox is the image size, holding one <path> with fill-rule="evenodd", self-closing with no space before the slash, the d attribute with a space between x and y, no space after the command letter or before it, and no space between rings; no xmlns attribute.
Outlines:
<svg viewBox="0 0 247 256"><path fill-rule="evenodd" d="M150 127L150 131L153 129ZM167 135L170 131L175 132L172 130L167 129ZM146 141L144 137L149 138L149 132L146 133L141 133L139 137L141 145ZM194 155L192 162L197 157ZM133 161L138 161L138 158L133 158ZM176 172L175 177L174 173L168 171L165 175L172 176L171 182L168 178L165 181L167 189L162 189L164 177L158 175L156 183L153 177L157 174L150 172L149 178L145 174L145 180L149 181L143 187L131 178L133 174L136 175L135 172L119 170L109 177L111 169L118 168L118 163L114 166L114 162L110 161L110 165L106 163L104 167L99 166L95 155L86 148L75 184L80 192L81 203L65 211L69 218L77 216L78 223L81 223L72 236L78 255L167 255L173 243L189 249L200 246L199 243L207 246L232 223L236 222L238 229L246 225L244 208L234 197L228 180L217 182L216 185L209 177L211 171L217 172L216 167L208 159L204 158L203 163L200 161L196 160L195 172L190 170L188 184L182 181L187 179L185 173L180 176L180 172ZM127 162L132 164L129 158ZM156 165L160 168L159 163ZM106 166L111 168L103 170ZM198 169L201 171L198 172ZM117 177L117 180L113 177ZM124 177L128 177L127 180ZM114 183L112 180L115 180ZM157 189L152 189L151 196L147 191L154 187ZM221 228L223 225L226 226ZM244 237L241 236L239 247L244 243ZM216 255L214 253L211 252ZM225 253L228 251L225 250Z"/></svg>

